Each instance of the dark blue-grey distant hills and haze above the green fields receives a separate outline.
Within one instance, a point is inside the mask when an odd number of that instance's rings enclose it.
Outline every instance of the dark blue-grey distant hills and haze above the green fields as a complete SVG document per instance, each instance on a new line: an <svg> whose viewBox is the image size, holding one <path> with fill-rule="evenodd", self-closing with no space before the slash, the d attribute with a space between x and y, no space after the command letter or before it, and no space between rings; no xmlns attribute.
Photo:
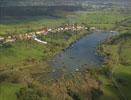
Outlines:
<svg viewBox="0 0 131 100"><path fill-rule="evenodd" d="M131 5L131 0L0 0L0 22L4 20L30 18L34 16L61 17L56 11L86 9L82 4L109 6ZM106 5L108 4L108 5Z"/></svg>

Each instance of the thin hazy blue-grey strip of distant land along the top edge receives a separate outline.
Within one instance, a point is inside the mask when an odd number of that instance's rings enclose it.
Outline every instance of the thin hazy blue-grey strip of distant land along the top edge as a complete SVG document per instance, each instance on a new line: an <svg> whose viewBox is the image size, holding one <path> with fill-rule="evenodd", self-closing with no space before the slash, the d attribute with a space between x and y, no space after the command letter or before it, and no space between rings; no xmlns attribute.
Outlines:
<svg viewBox="0 0 131 100"><path fill-rule="evenodd" d="M85 2L131 4L131 0L0 0L0 6L77 5Z"/></svg>

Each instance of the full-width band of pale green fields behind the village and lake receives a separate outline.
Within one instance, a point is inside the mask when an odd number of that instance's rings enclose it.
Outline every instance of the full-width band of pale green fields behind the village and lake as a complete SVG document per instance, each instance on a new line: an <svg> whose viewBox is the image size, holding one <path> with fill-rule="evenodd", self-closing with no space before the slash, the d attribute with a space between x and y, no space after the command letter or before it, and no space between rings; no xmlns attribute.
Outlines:
<svg viewBox="0 0 131 100"><path fill-rule="evenodd" d="M43 27L57 27L63 25L63 23L79 23L98 29L112 29L116 23L130 16L130 14L122 14L117 11L77 11L58 12L57 14L61 15L61 18L38 18L22 20L13 24L0 24L0 35L26 33Z"/></svg>

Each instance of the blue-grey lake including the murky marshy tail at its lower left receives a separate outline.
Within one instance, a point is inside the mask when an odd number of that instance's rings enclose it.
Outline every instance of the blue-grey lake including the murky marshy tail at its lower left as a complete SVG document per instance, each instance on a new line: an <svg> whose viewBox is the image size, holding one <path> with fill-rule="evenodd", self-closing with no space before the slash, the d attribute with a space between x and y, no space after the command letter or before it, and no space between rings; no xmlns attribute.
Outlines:
<svg viewBox="0 0 131 100"><path fill-rule="evenodd" d="M61 51L49 61L52 71L39 73L34 77L42 82L57 80L63 74L70 74L84 68L97 68L103 63L103 57L97 54L101 42L117 35L117 32L96 31L87 34L69 48Z"/></svg>

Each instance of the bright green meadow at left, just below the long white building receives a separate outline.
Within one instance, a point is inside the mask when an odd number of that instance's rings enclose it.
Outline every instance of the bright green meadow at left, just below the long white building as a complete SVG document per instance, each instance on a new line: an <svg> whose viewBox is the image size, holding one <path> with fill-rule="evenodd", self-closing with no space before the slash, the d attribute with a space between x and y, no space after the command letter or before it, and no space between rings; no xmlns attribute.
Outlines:
<svg viewBox="0 0 131 100"><path fill-rule="evenodd" d="M41 59L44 50L47 50L46 46L35 41L20 41L8 48L1 47L0 64L15 64L29 58Z"/></svg>

